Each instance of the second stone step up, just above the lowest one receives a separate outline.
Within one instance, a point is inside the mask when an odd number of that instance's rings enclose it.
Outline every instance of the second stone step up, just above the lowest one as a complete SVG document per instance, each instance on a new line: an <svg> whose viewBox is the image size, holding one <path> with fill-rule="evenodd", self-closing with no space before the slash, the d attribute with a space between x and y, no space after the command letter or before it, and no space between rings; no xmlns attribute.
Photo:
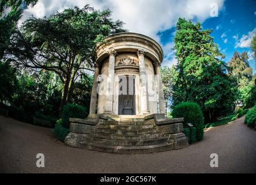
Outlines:
<svg viewBox="0 0 256 185"><path fill-rule="evenodd" d="M96 143L107 146L148 146L148 145L159 145L167 142L172 142L167 136L157 139L140 139L140 140L114 140L114 139L102 139L92 138L90 136L85 137L85 142Z"/></svg>

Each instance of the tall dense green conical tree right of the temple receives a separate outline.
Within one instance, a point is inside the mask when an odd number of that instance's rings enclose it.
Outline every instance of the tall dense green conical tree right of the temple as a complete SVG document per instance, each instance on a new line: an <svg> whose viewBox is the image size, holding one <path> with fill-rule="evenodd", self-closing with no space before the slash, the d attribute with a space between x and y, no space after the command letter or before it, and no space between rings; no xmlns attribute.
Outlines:
<svg viewBox="0 0 256 185"><path fill-rule="evenodd" d="M200 23L179 18L173 48L178 61L174 105L182 101L197 102L205 121L216 120L232 110L235 101L235 86L225 73L224 55L213 42L211 32L203 30Z"/></svg>

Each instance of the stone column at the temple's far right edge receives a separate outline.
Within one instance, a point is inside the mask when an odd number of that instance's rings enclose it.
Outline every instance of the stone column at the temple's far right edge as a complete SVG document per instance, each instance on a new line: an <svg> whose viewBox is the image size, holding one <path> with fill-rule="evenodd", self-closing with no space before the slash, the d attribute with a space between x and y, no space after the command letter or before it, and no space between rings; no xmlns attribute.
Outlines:
<svg viewBox="0 0 256 185"><path fill-rule="evenodd" d="M159 97L159 113L166 113L164 94L163 94L163 84L160 72L160 65L156 64L156 75L158 75L158 97Z"/></svg>

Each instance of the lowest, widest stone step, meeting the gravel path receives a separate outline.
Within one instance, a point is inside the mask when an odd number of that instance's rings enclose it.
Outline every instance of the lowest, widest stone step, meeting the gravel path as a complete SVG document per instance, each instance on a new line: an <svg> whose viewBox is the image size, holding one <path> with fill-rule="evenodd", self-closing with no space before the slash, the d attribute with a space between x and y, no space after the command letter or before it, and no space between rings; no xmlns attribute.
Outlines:
<svg viewBox="0 0 256 185"><path fill-rule="evenodd" d="M80 142L79 147L88 150L96 150L111 153L120 154L145 154L145 153L155 153L159 151L167 151L175 149L174 143L164 143L159 145L147 145L147 146L106 146L96 143Z"/></svg>

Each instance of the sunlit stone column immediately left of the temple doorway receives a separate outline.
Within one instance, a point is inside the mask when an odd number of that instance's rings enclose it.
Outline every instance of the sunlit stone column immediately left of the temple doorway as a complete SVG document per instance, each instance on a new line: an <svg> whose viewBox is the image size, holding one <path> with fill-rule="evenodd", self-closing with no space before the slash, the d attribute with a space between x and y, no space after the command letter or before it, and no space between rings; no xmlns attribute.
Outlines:
<svg viewBox="0 0 256 185"><path fill-rule="evenodd" d="M114 75L115 75L115 56L116 51L114 49L108 51L108 90L106 94L105 110L104 113L113 114L113 96L114 96Z"/></svg>

